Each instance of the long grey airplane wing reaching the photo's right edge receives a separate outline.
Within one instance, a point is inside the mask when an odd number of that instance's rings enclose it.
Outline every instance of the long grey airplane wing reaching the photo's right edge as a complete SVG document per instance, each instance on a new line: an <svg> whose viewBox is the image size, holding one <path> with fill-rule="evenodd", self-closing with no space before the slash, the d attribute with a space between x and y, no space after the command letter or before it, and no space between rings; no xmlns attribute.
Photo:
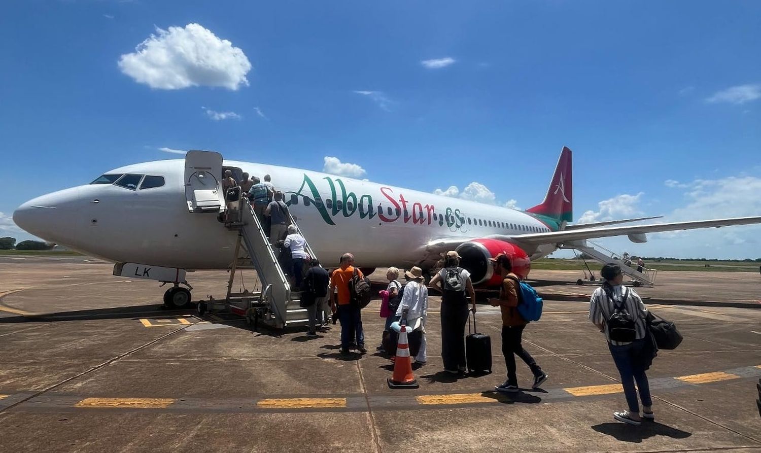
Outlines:
<svg viewBox="0 0 761 453"><path fill-rule="evenodd" d="M730 225L753 225L757 223L761 223L761 216L735 217L733 219L695 220L691 222L654 223L651 225L579 228L570 231L550 231L547 233L515 234L510 236L495 234L489 237L502 240L511 239L531 245L561 244L568 241L607 238L610 236L622 236L625 234L658 233L661 231L691 230L694 228L721 228Z"/></svg>

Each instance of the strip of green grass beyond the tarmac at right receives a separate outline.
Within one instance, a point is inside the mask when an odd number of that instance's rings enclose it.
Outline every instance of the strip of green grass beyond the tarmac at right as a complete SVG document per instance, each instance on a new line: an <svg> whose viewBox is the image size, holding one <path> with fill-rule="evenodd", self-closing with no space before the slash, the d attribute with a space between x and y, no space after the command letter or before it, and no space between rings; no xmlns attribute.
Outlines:
<svg viewBox="0 0 761 453"><path fill-rule="evenodd" d="M597 261L587 260L592 272L597 273L603 266ZM706 264L708 266L706 266ZM663 260L645 261L645 267L656 270L693 271L693 272L759 272L758 263L733 263L731 261L683 261ZM532 270L586 270L583 260L540 258L531 262Z"/></svg>

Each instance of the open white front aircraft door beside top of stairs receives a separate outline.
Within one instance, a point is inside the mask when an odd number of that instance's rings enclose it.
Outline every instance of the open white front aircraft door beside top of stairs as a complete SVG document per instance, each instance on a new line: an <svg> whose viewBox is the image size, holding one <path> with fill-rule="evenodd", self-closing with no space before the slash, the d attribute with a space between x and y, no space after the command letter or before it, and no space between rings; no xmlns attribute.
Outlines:
<svg viewBox="0 0 761 453"><path fill-rule="evenodd" d="M189 151L185 155L185 198L190 212L223 212L222 155Z"/></svg>

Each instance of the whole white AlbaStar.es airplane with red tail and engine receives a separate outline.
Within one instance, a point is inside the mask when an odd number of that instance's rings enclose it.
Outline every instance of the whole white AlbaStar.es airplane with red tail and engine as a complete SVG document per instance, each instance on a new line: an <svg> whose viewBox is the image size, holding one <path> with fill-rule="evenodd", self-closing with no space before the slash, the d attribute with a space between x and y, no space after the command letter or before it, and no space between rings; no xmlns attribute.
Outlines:
<svg viewBox="0 0 761 453"><path fill-rule="evenodd" d="M430 270L442 252L457 250L473 283L485 286L498 285L489 265L489 258L498 253L507 253L517 273L525 276L530 260L572 241L628 235L631 241L644 242L646 233L657 231L761 223L757 216L651 225L613 226L651 218L568 225L573 206L572 153L565 147L544 201L526 211L316 171L223 161L218 153L191 151L184 160L115 168L87 185L31 199L14 212L13 219L46 241L117 266L142 265L129 276L175 281L177 286L174 275L141 276L139 270L168 268L179 276L180 271L184 275L186 270L231 266L237 232L218 220L225 209L219 186L226 169L238 178L242 172L272 175L326 267L337 266L341 254L352 252L363 269ZM179 300L187 301L189 292L187 296Z"/></svg>

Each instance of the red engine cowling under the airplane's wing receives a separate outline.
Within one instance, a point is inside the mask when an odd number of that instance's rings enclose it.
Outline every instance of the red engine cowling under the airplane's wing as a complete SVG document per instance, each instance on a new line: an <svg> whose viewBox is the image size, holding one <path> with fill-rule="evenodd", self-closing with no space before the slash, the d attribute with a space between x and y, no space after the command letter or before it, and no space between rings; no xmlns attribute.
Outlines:
<svg viewBox="0 0 761 453"><path fill-rule="evenodd" d="M521 247L498 239L474 239L463 242L456 250L460 255L460 266L470 271L473 285L501 284L501 277L495 274L494 266L489 263L489 259L498 254L507 255L513 265L513 273L523 279L531 270L531 259Z"/></svg>

